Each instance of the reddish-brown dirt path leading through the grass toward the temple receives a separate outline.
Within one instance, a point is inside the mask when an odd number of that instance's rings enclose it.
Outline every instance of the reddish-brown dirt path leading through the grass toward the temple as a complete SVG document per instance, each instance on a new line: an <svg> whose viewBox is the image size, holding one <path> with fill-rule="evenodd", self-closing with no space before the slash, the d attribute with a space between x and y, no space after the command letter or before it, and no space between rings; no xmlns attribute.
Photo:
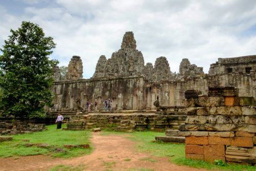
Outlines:
<svg viewBox="0 0 256 171"><path fill-rule="evenodd" d="M151 168L158 170L199 170L186 166L179 166L168 162L167 157L150 156L149 153L135 152L133 141L123 138L123 135L109 135L101 136L99 133L93 133L91 139L95 151L88 156L76 157L72 159L53 159L48 156L26 156L19 157L19 159L1 158L0 170L45 170L49 167L54 167L59 164L77 166L84 164L85 170L127 170L130 168ZM139 160L141 158L150 157L158 162L151 162L148 160ZM130 158L130 161L125 159ZM115 162L111 167L107 168L103 165L104 162ZM204 170L204 169L200 169Z"/></svg>

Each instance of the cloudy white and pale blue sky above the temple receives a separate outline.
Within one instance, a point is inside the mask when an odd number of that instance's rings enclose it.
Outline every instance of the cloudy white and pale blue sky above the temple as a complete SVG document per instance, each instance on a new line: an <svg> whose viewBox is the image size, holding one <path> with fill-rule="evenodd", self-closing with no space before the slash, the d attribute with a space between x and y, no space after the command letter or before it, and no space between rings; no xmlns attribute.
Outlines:
<svg viewBox="0 0 256 171"><path fill-rule="evenodd" d="M172 72L182 58L203 67L218 58L256 54L254 0L0 0L0 46L23 20L38 24L57 44L51 58L68 66L73 55L90 78L100 55L120 49L133 31L146 62L165 56Z"/></svg>

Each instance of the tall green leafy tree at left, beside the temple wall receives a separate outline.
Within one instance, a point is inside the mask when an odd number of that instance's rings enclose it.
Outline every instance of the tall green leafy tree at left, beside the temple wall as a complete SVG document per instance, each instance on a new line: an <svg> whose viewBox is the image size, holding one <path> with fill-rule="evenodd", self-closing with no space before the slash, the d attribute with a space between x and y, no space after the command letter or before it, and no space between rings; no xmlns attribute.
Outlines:
<svg viewBox="0 0 256 171"><path fill-rule="evenodd" d="M58 61L49 55L56 44L31 22L10 32L0 49L0 111L4 116L44 117L44 106L53 100L52 67Z"/></svg>

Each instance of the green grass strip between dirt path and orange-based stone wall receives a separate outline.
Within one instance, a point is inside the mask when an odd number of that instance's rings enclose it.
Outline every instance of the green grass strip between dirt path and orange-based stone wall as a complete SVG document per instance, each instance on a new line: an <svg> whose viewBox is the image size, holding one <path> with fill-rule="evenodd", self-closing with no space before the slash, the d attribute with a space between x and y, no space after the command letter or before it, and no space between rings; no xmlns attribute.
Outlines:
<svg viewBox="0 0 256 171"><path fill-rule="evenodd" d="M185 158L185 144L152 142L155 136L165 136L164 133L156 132L134 132L134 133L117 133L117 132L104 132L102 135L110 134L129 134L125 138L132 141L137 141L136 148L138 152L151 152L153 156L169 157L169 161L179 165L186 165L189 167L206 168L209 170L256 170L255 166L245 165L216 165L204 161L195 161Z"/></svg>

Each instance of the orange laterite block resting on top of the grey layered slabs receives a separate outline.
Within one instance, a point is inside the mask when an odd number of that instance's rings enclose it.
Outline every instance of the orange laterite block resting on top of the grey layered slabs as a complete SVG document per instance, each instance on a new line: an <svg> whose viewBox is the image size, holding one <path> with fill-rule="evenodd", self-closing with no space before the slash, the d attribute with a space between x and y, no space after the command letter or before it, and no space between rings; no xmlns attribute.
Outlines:
<svg viewBox="0 0 256 171"><path fill-rule="evenodd" d="M253 147L252 137L232 137L230 138L231 146Z"/></svg>

